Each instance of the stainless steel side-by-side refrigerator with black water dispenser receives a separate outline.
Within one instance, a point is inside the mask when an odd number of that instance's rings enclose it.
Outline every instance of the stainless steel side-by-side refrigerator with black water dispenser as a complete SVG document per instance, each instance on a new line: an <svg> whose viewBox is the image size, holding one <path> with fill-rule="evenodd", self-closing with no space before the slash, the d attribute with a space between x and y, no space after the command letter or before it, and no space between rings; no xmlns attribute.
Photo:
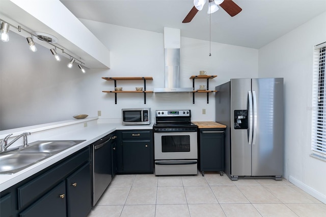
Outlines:
<svg viewBox="0 0 326 217"><path fill-rule="evenodd" d="M281 180L283 78L231 79L215 90L215 120L227 125L225 173Z"/></svg>

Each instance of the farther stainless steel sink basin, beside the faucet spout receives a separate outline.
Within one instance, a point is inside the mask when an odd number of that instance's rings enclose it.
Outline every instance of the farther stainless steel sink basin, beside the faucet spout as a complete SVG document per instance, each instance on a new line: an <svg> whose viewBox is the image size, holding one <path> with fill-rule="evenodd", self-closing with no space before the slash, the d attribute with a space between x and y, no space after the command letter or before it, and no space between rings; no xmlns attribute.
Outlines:
<svg viewBox="0 0 326 217"><path fill-rule="evenodd" d="M28 147L20 149L20 152L59 152L74 145L77 145L85 140L57 140L57 141L36 141L30 143Z"/></svg>

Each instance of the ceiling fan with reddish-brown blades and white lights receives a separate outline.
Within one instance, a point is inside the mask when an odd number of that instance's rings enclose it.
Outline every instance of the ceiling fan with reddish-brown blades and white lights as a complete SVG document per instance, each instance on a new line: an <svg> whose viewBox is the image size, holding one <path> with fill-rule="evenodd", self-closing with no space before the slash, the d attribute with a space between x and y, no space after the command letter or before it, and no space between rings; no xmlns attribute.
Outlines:
<svg viewBox="0 0 326 217"><path fill-rule="evenodd" d="M190 22L195 17L198 11L201 11L208 1L208 12L207 13L214 13L215 11L219 10L217 5L220 5L231 17L237 15L242 11L242 9L235 4L232 0L194 0L194 7L189 11L187 16L185 16L183 23Z"/></svg>

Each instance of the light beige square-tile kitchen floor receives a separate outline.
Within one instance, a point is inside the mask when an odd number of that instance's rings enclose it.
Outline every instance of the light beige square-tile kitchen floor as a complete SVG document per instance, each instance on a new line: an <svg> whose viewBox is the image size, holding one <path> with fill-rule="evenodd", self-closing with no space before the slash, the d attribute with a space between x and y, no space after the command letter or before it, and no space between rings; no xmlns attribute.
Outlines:
<svg viewBox="0 0 326 217"><path fill-rule="evenodd" d="M116 175L88 215L100 216L326 216L321 203L287 180Z"/></svg>

